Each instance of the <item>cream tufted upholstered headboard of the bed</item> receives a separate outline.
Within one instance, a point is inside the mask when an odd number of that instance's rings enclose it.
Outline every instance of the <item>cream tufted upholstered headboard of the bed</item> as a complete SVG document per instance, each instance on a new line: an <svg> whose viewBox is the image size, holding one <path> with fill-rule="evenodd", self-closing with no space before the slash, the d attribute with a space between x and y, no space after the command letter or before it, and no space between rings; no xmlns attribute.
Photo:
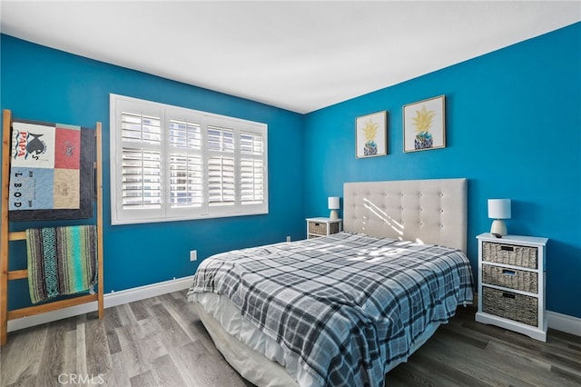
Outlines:
<svg viewBox="0 0 581 387"><path fill-rule="evenodd" d="M343 229L466 252L467 179L345 183Z"/></svg>

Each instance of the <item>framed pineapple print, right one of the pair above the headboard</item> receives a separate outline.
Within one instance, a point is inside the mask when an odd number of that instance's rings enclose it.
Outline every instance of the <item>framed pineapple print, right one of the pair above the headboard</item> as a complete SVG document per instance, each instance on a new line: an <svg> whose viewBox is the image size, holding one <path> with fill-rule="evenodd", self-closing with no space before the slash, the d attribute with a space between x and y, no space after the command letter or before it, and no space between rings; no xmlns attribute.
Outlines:
<svg viewBox="0 0 581 387"><path fill-rule="evenodd" d="M404 152L446 147L445 96L403 107Z"/></svg>

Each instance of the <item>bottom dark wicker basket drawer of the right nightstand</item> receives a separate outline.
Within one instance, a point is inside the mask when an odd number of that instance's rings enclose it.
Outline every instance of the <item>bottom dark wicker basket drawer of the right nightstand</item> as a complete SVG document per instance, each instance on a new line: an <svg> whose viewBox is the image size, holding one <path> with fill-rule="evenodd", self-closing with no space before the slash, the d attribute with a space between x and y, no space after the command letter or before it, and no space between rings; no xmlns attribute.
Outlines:
<svg viewBox="0 0 581 387"><path fill-rule="evenodd" d="M528 295L482 287L482 311L527 325L538 325L538 300Z"/></svg>

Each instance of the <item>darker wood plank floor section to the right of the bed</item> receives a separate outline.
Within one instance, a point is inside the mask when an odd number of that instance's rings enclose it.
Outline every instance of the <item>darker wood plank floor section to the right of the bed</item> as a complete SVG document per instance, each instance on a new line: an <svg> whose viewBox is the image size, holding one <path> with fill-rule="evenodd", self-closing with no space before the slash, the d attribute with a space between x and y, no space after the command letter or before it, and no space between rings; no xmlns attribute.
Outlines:
<svg viewBox="0 0 581 387"><path fill-rule="evenodd" d="M581 386L581 337L549 330L547 342L477 323L474 307L457 315L407 363L389 386Z"/></svg>

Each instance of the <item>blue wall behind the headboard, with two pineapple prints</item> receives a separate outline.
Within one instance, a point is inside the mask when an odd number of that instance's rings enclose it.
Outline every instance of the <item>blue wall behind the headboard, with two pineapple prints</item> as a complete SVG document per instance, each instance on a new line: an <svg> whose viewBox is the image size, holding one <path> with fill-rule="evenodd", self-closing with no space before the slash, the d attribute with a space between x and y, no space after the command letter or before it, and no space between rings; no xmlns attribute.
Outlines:
<svg viewBox="0 0 581 387"><path fill-rule="evenodd" d="M389 64L386 64L389 65ZM405 154L402 106L446 95L447 147ZM581 317L581 24L306 116L305 210L353 181L468 178L468 256L487 199L512 199L509 233L550 238L547 309ZM355 158L355 118L388 111L387 156ZM476 274L476 272L475 272Z"/></svg>

